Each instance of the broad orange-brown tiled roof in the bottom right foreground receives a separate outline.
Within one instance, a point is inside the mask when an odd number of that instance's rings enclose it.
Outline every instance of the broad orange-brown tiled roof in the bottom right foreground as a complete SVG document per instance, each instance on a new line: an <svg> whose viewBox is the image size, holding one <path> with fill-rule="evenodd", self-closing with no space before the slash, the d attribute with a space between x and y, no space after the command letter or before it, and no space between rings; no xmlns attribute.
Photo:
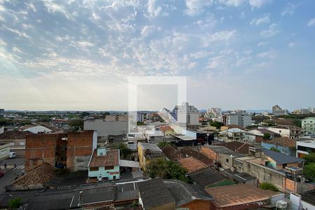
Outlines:
<svg viewBox="0 0 315 210"><path fill-rule="evenodd" d="M214 197L214 204L219 208L259 202L269 199L272 195L279 194L271 190L262 190L248 184L206 188L205 190L209 195Z"/></svg>

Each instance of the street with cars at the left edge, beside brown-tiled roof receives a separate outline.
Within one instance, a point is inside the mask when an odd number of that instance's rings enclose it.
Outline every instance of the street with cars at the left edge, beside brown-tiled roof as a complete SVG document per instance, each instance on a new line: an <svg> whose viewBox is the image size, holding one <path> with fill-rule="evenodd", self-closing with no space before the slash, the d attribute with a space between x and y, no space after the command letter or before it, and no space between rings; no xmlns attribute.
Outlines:
<svg viewBox="0 0 315 210"><path fill-rule="evenodd" d="M1 160L0 168L1 172L4 172L4 176L0 178L0 193L5 192L5 187L13 183L16 176L20 176L22 173L25 174L24 162L24 158ZM4 163L6 163L6 169ZM14 164L16 167L14 167Z"/></svg>

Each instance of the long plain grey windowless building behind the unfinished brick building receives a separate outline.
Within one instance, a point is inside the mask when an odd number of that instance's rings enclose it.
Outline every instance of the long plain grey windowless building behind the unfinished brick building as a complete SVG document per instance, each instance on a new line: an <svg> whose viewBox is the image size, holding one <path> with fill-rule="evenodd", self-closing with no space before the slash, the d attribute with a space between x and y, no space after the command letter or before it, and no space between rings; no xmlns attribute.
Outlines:
<svg viewBox="0 0 315 210"><path fill-rule="evenodd" d="M128 132L128 121L105 121L102 119L85 120L84 130L97 131L98 137L124 135Z"/></svg>

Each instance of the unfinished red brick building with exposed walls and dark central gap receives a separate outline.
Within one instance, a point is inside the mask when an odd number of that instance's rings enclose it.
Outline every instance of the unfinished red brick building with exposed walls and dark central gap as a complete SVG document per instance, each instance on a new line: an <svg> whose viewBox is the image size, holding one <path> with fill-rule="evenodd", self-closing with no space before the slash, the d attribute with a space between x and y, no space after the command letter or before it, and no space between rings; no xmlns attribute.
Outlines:
<svg viewBox="0 0 315 210"><path fill-rule="evenodd" d="M96 147L97 133L93 130L67 134L29 134L25 145L25 170L29 172L43 162L64 166L71 172L87 169Z"/></svg>

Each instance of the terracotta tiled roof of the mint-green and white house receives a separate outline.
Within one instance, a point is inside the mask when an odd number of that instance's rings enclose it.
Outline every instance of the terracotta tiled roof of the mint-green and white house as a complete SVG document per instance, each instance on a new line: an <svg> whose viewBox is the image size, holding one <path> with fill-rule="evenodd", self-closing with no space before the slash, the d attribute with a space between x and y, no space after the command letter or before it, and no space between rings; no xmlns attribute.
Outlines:
<svg viewBox="0 0 315 210"><path fill-rule="evenodd" d="M119 165L119 150L106 151L106 155L97 156L97 149L94 150L89 167L103 167Z"/></svg>

